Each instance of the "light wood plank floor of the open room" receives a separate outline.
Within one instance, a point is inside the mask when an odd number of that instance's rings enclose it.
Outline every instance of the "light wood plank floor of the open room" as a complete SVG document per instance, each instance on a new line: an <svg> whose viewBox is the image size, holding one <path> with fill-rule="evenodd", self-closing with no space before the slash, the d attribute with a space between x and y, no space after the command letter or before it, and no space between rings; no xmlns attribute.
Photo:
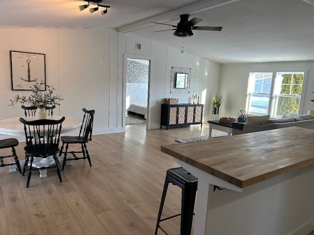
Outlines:
<svg viewBox="0 0 314 235"><path fill-rule="evenodd" d="M130 125L126 133L94 135L87 144L93 166L73 161L61 172L62 183L55 169L48 169L48 178L35 171L25 188L26 176L1 167L0 234L153 235L166 170L179 166L160 152L160 145L207 135L208 126L145 128ZM20 160L23 147L23 142L16 147ZM171 185L163 216L180 209L181 188ZM162 226L169 235L179 235L180 217Z"/></svg>

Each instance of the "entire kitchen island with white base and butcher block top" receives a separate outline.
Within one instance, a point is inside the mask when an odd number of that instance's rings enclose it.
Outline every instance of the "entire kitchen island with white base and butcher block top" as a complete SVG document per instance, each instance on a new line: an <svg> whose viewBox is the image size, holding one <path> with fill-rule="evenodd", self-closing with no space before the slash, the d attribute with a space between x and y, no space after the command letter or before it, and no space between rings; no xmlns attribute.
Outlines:
<svg viewBox="0 0 314 235"><path fill-rule="evenodd" d="M199 179L194 235L314 230L314 130L289 127L161 151Z"/></svg>

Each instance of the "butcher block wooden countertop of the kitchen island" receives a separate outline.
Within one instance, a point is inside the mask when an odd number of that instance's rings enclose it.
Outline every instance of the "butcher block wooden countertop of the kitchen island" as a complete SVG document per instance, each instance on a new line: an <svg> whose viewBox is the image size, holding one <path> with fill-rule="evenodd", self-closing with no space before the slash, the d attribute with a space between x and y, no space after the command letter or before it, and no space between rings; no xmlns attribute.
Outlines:
<svg viewBox="0 0 314 235"><path fill-rule="evenodd" d="M314 130L288 127L161 146L161 151L239 188L314 163Z"/></svg>

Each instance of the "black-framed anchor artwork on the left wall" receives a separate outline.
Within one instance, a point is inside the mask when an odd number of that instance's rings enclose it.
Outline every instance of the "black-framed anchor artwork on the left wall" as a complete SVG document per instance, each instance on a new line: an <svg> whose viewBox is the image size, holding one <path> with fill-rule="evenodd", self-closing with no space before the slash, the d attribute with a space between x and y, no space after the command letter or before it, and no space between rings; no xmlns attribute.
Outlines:
<svg viewBox="0 0 314 235"><path fill-rule="evenodd" d="M31 91L36 80L46 84L45 54L10 50L10 60L12 90Z"/></svg>

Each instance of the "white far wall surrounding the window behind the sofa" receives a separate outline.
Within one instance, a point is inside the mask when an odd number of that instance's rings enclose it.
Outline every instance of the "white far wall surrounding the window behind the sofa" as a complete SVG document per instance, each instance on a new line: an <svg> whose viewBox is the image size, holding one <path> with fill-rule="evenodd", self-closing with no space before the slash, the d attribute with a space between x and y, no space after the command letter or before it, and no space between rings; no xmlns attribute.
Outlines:
<svg viewBox="0 0 314 235"><path fill-rule="evenodd" d="M303 106L300 114L314 110L314 61L227 64L221 67L220 92L224 96L220 117L236 118L240 110L245 110L248 77L250 71L308 71Z"/></svg>

